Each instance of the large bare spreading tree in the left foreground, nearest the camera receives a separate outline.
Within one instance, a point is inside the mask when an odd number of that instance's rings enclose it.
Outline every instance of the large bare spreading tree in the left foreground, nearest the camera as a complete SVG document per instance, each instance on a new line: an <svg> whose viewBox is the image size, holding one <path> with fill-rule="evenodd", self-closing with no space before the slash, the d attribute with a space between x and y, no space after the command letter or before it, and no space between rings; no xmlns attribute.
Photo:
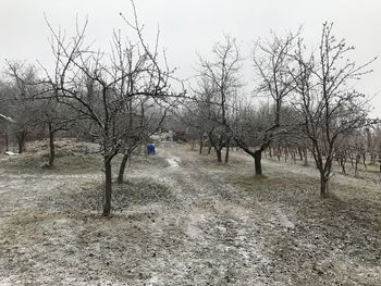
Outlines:
<svg viewBox="0 0 381 286"><path fill-rule="evenodd" d="M47 72L47 82L58 102L94 123L91 136L100 144L103 158L106 216L111 211L111 162L132 128L128 121L134 111L128 102L138 98L167 109L173 95L169 85L173 71L159 65L158 41L153 50L148 48L136 13L135 22L126 23L137 35L137 41L122 41L115 33L111 52L85 43L87 22L82 27L77 25L76 34L69 40L51 28L56 70L52 75Z"/></svg>

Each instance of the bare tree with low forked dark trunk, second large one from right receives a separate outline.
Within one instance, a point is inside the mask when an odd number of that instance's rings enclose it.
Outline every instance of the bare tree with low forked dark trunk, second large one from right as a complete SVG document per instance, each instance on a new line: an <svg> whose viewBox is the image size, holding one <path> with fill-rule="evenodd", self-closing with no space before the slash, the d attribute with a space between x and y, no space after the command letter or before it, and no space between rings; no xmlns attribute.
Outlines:
<svg viewBox="0 0 381 286"><path fill-rule="evenodd" d="M255 94L270 101L267 109L263 107L255 109L250 103L249 105L245 103L244 110L241 111L243 114L238 116L234 128L234 139L254 158L256 175L262 175L262 152L285 130L282 108L286 103L286 97L294 89L294 79L288 71L292 63L290 53L296 35L290 33L281 38L272 34L272 38L268 41L258 40L253 51L255 77L258 84Z"/></svg>

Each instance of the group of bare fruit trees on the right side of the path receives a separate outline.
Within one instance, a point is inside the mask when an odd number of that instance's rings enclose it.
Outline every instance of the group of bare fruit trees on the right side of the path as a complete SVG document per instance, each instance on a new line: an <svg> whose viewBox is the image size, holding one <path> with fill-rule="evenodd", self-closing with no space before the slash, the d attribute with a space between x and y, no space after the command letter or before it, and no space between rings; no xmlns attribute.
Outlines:
<svg viewBox="0 0 381 286"><path fill-rule="evenodd" d="M355 49L323 24L318 48L308 49L302 32L284 37L271 34L258 40L251 53L255 100L243 95L239 82L243 58L235 39L225 37L214 46L213 60L199 60L194 98L184 121L207 134L222 161L221 152L234 142L255 161L262 175L261 158L281 138L312 154L320 173L321 195L328 192L332 163L347 148L346 139L378 123L370 120L368 99L353 88L354 82L371 72L369 65L351 60Z"/></svg>

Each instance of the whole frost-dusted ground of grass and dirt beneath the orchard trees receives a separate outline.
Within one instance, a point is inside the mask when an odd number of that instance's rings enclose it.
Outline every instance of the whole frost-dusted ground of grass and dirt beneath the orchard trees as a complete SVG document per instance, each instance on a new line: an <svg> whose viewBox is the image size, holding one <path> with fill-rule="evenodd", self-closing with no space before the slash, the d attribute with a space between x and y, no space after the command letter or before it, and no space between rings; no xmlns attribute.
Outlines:
<svg viewBox="0 0 381 286"><path fill-rule="evenodd" d="M91 148L0 158L0 285L380 285L379 181L336 175L321 199L314 167L158 149L108 219Z"/></svg>

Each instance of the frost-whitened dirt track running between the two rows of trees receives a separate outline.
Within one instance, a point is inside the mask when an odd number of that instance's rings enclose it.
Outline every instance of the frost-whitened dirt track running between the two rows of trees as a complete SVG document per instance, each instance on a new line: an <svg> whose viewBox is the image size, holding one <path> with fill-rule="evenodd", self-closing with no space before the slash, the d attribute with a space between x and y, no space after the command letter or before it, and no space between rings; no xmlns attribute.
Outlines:
<svg viewBox="0 0 381 286"><path fill-rule="evenodd" d="M293 223L280 209L265 208L201 166L194 153L167 147L159 156L170 166L157 176L171 186L177 210L155 226L173 232L175 239L160 253L152 277L157 285L273 284L261 232L272 224L292 228Z"/></svg>

